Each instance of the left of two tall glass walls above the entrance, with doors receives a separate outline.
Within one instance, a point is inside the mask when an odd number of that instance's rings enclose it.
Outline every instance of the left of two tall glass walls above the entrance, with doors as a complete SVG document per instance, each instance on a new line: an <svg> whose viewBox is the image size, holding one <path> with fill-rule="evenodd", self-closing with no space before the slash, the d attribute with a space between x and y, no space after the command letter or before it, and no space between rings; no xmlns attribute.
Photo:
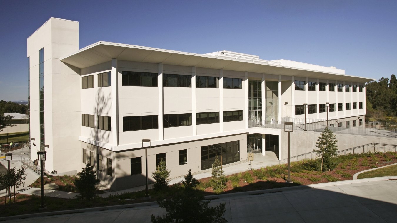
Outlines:
<svg viewBox="0 0 397 223"><path fill-rule="evenodd" d="M262 120L262 84L260 80L248 81L249 121Z"/></svg>

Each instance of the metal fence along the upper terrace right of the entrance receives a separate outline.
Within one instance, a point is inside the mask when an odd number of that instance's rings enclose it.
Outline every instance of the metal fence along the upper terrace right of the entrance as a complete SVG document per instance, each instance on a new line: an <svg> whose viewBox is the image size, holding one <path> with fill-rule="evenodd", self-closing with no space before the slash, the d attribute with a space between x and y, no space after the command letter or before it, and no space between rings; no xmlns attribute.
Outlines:
<svg viewBox="0 0 397 223"><path fill-rule="evenodd" d="M328 120L328 128L335 133L344 134L357 134L357 135L376 135L383 137L394 137L397 138L397 124L390 122L361 122L357 120L353 122L339 121L339 120ZM313 132L323 132L327 126L327 120L324 119L306 119L304 118L291 118L283 117L280 122L266 122L265 120L249 121L248 126L250 128L262 127L262 128L284 128L284 122L293 122L294 130L307 130Z"/></svg>

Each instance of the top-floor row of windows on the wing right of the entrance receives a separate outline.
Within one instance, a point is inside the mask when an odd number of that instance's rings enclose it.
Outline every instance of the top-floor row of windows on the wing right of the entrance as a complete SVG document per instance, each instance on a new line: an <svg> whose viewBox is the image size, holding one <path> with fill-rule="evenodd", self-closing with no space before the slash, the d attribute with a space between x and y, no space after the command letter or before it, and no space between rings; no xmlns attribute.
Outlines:
<svg viewBox="0 0 397 223"><path fill-rule="evenodd" d="M296 91L304 91L305 90L305 81L295 80L295 90ZM316 91L317 82L308 81L308 90L309 91ZM327 83L320 82L318 84L319 91L326 91ZM357 92L357 85L350 85L345 84L345 91L350 92L350 88L352 88L353 92ZM363 92L364 86L358 86L358 92ZM329 83L328 84L328 91L335 91L335 84ZM343 84L337 84L337 91L343 91Z"/></svg>

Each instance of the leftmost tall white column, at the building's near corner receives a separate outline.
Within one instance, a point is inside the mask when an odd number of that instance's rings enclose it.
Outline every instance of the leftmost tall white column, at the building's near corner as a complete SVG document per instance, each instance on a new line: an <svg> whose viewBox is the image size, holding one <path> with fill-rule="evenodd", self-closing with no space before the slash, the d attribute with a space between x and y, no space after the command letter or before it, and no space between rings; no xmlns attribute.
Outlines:
<svg viewBox="0 0 397 223"><path fill-rule="evenodd" d="M119 145L119 83L117 59L112 59L112 70L110 71L110 84L112 86L112 141L113 145ZM95 122L98 123L98 122Z"/></svg>

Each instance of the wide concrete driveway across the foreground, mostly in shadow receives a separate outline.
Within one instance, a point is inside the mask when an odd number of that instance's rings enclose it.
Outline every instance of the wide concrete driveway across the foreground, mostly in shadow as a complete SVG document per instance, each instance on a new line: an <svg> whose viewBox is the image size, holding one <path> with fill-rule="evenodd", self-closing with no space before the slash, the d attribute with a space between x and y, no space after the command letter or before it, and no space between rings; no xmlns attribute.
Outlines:
<svg viewBox="0 0 397 223"><path fill-rule="evenodd" d="M211 205L226 204L228 222L396 222L397 188L391 177L321 183L282 189L216 195ZM395 177L397 178L397 177ZM249 195L251 194L251 195ZM0 218L6 222L150 222L150 215L165 211L156 203L137 204L134 208L98 209L19 219ZM80 210L80 212L85 210ZM42 213L44 214L44 213ZM26 216L27 217L27 216Z"/></svg>

